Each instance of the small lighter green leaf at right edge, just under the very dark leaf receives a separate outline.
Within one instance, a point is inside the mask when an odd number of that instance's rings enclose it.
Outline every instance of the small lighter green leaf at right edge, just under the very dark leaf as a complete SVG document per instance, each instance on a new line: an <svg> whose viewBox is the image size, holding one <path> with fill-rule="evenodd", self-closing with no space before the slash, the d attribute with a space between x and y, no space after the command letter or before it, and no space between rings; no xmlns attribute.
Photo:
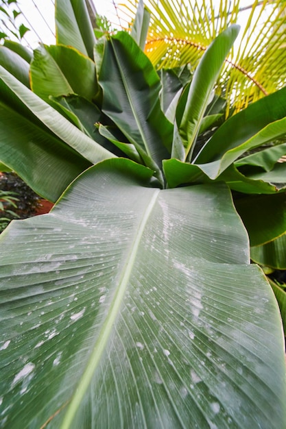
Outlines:
<svg viewBox="0 0 286 429"><path fill-rule="evenodd" d="M270 243L250 248L251 259L259 265L266 265L274 269L286 269L286 234Z"/></svg>

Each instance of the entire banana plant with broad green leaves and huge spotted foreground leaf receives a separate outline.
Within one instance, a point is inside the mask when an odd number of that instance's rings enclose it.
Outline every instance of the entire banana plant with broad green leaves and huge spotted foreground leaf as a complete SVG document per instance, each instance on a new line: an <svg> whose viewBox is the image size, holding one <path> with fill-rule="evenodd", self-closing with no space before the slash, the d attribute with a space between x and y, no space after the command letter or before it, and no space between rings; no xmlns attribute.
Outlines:
<svg viewBox="0 0 286 429"><path fill-rule="evenodd" d="M84 10L58 0L32 62L0 55L0 160L56 201L1 234L1 427L283 429L281 315L232 197L283 195L235 164L285 132L283 90L198 150L239 27L159 75L143 7L99 40Z"/></svg>

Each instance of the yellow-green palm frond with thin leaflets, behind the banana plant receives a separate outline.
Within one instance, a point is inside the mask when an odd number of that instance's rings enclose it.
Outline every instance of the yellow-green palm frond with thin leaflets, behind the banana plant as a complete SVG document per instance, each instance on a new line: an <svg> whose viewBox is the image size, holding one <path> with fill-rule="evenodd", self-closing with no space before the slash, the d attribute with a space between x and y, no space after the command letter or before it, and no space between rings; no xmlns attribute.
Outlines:
<svg viewBox="0 0 286 429"><path fill-rule="evenodd" d="M211 41L233 23L241 34L217 81L234 112L286 82L286 2L281 0L145 0L151 13L145 53L157 69L194 69ZM123 9L134 19L138 0Z"/></svg>

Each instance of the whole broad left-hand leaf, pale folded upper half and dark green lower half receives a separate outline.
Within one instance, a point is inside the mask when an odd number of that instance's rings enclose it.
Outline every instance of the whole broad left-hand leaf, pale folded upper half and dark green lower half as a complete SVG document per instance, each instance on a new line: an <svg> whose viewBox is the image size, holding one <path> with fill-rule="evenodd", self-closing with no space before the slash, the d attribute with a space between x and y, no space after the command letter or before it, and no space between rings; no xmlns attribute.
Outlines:
<svg viewBox="0 0 286 429"><path fill-rule="evenodd" d="M91 163L115 157L0 66L0 161L52 201Z"/></svg>

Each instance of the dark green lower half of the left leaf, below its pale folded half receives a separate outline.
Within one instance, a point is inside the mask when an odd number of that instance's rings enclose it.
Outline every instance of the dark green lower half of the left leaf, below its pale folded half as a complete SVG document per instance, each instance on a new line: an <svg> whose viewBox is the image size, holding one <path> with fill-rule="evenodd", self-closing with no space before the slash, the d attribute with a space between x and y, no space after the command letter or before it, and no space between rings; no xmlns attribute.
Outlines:
<svg viewBox="0 0 286 429"><path fill-rule="evenodd" d="M0 86L3 96L3 86ZM36 193L56 201L91 164L36 119L0 101L0 170L10 168ZM3 164L6 167L3 168Z"/></svg>

